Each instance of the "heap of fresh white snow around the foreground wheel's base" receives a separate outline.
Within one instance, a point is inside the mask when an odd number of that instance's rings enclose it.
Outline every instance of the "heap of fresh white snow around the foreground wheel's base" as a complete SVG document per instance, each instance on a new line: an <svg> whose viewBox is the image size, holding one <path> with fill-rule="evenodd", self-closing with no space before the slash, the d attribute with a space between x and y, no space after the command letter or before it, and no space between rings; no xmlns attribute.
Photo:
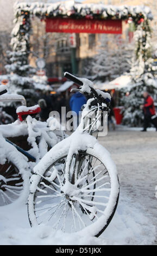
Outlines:
<svg viewBox="0 0 157 256"><path fill-rule="evenodd" d="M0 212L0 245L151 245L154 240L155 227L128 197L120 197L114 218L98 238L64 234L42 224L30 228L23 204L1 207Z"/></svg>

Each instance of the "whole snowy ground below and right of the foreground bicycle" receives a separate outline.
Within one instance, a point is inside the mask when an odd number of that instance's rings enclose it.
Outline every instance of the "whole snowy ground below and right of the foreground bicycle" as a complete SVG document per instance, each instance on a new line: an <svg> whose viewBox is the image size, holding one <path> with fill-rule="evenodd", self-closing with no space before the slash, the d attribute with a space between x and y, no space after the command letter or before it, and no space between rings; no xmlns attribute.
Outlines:
<svg viewBox="0 0 157 256"><path fill-rule="evenodd" d="M157 132L118 127L99 141L117 164L121 188L116 214L104 233L98 238L78 237L54 233L44 225L30 228L27 206L12 204L1 207L0 245L157 244Z"/></svg>

